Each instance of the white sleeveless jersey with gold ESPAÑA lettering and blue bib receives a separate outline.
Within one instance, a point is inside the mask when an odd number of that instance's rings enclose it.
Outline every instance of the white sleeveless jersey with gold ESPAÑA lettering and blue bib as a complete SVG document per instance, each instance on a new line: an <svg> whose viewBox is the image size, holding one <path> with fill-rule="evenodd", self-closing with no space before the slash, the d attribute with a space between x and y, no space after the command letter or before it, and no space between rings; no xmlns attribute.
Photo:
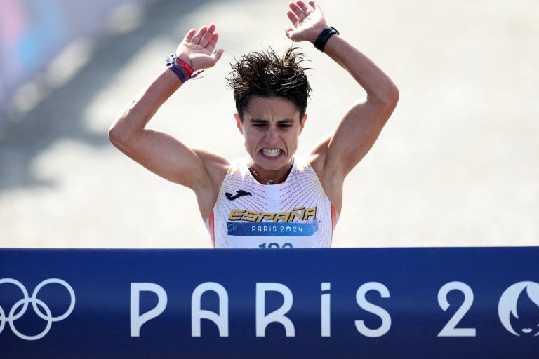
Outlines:
<svg viewBox="0 0 539 359"><path fill-rule="evenodd" d="M338 214L306 159L285 182L264 185L234 161L204 222L215 248L328 248Z"/></svg>

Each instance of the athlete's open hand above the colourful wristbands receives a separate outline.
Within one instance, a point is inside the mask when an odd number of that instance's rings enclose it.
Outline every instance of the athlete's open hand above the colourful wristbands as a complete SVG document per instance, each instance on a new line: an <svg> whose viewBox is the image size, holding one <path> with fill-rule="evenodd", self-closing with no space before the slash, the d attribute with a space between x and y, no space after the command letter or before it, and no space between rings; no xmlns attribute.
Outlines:
<svg viewBox="0 0 539 359"><path fill-rule="evenodd" d="M213 67L225 51L222 48L215 50L219 34L215 32L215 25L204 25L199 29L190 29L183 41L176 49L176 57L187 62L194 71Z"/></svg>

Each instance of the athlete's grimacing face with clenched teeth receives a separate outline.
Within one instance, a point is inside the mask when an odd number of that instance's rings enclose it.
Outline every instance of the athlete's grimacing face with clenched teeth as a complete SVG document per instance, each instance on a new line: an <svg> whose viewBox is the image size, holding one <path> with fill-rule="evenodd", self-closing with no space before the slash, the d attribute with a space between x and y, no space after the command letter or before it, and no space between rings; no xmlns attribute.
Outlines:
<svg viewBox="0 0 539 359"><path fill-rule="evenodd" d="M244 110L243 123L238 114L234 117L257 170L280 170L292 163L307 118L305 115L300 123L300 113L293 102L284 97L254 96Z"/></svg>

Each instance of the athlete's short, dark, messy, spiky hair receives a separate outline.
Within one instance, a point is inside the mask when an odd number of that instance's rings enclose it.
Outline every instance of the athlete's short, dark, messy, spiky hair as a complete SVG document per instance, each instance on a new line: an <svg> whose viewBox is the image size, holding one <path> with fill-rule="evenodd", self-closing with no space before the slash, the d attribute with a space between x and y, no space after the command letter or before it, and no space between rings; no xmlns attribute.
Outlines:
<svg viewBox="0 0 539 359"><path fill-rule="evenodd" d="M305 55L294 52L298 47L290 47L283 57L279 57L273 48L267 51L253 51L241 55L232 66L227 77L230 88L234 90L234 100L239 118L243 121L244 110L253 96L284 97L295 104L301 118L307 110L307 97L311 86L307 81L301 62Z"/></svg>

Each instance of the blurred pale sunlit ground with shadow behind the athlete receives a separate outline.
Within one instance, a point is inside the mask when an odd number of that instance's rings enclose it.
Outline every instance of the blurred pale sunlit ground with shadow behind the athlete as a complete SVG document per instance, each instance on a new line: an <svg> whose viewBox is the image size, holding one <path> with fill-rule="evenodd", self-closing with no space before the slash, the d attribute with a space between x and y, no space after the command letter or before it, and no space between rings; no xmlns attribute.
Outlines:
<svg viewBox="0 0 539 359"><path fill-rule="evenodd" d="M225 83L244 52L291 45L287 1L1 0L0 247L210 248L194 194L107 130L192 27L225 54L149 123L244 156ZM539 2L319 1L389 74L397 109L345 182L335 247L539 245ZM364 91L312 61L305 154Z"/></svg>

